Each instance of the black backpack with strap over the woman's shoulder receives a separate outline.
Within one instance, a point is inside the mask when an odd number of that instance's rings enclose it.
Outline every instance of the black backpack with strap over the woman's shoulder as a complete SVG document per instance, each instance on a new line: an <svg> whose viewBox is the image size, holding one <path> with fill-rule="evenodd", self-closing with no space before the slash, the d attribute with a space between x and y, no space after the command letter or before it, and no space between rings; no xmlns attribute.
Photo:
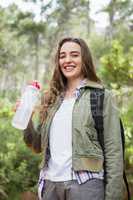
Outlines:
<svg viewBox="0 0 133 200"><path fill-rule="evenodd" d="M102 147L104 154L104 126L103 126L103 101L104 101L104 88L90 88L90 104L92 117L95 123L95 129L98 135L98 141ZM123 148L123 162L124 162L124 151L125 151L125 134L122 120L120 119L120 129L121 129L121 139L122 139L122 148ZM106 163L104 162L104 175L106 184ZM125 170L123 171L123 179L127 190L128 200L131 200L129 185L126 177Z"/></svg>

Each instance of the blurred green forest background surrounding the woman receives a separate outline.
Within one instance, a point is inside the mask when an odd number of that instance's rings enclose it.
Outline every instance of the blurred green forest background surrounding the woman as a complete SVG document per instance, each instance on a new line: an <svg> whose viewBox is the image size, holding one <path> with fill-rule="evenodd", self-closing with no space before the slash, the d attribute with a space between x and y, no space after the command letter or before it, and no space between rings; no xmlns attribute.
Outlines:
<svg viewBox="0 0 133 200"><path fill-rule="evenodd" d="M133 189L133 1L0 0L0 200L35 198L43 155L28 150L11 126L12 107L29 80L47 89L65 36L87 42L99 77L116 95Z"/></svg>

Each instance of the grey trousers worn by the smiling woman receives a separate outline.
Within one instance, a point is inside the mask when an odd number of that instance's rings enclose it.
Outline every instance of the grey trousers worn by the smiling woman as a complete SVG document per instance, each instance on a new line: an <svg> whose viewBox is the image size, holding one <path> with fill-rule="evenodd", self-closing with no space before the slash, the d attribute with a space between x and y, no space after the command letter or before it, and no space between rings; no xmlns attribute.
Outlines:
<svg viewBox="0 0 133 200"><path fill-rule="evenodd" d="M46 180L42 200L104 200L104 183L100 179L92 179L81 185L75 180Z"/></svg>

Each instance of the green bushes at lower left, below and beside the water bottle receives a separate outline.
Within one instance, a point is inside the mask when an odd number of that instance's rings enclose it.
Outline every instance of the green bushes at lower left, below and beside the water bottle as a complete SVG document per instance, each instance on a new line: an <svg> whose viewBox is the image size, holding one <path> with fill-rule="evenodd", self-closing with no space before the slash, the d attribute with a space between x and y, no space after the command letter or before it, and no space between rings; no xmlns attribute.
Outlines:
<svg viewBox="0 0 133 200"><path fill-rule="evenodd" d="M23 133L11 126L12 105L8 101L4 102L0 105L1 199L6 199L8 196L15 197L16 194L25 190L36 192L41 159L26 147L23 142Z"/></svg>

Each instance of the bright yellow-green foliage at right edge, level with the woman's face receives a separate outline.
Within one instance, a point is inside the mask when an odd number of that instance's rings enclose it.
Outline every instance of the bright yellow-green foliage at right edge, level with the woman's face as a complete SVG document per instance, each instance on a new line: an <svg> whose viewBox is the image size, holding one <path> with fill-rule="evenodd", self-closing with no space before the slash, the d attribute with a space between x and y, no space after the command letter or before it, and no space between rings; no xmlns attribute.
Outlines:
<svg viewBox="0 0 133 200"><path fill-rule="evenodd" d="M133 48L130 48L129 52L125 54L120 42L114 40L110 52L101 57L101 76L109 86L116 84L119 88L125 84L133 84L131 52L133 52Z"/></svg>

